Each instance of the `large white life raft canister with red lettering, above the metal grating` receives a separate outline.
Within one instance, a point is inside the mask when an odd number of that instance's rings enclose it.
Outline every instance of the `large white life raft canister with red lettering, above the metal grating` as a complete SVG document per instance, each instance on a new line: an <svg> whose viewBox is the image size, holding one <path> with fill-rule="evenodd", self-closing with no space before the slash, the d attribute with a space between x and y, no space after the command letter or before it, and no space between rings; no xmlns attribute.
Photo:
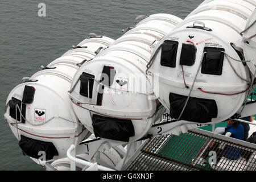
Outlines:
<svg viewBox="0 0 256 182"><path fill-rule="evenodd" d="M247 99L252 80L237 47L252 6L207 1L156 45L147 74L159 77L154 92L176 126L225 121Z"/></svg>

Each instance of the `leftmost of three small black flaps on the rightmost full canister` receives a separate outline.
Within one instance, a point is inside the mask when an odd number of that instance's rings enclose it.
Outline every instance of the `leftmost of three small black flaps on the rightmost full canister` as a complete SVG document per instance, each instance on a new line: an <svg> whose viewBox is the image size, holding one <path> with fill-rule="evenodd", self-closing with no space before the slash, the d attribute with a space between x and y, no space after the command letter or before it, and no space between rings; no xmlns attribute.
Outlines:
<svg viewBox="0 0 256 182"><path fill-rule="evenodd" d="M179 42L172 40L165 40L162 45L160 64L164 67L176 67L177 47Z"/></svg>

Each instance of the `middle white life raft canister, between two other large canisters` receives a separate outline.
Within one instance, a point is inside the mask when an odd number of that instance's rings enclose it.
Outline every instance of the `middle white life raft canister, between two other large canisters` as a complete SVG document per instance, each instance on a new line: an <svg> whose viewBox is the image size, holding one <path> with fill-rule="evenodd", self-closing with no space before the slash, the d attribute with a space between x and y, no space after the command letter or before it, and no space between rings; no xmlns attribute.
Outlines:
<svg viewBox="0 0 256 182"><path fill-rule="evenodd" d="M134 142L160 119L165 109L154 97L146 65L155 43L180 21L168 14L148 16L77 71L72 106L96 137Z"/></svg>

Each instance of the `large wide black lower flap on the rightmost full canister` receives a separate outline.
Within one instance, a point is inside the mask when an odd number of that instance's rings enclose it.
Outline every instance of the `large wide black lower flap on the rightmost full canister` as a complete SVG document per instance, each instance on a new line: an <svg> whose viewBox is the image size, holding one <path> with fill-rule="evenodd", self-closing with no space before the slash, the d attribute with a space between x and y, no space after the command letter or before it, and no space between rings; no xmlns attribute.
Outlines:
<svg viewBox="0 0 256 182"><path fill-rule="evenodd" d="M181 111L187 100L187 96L170 93L170 114L171 118L179 118ZM188 104L185 107L181 120L207 123L218 115L218 107L214 100L204 98L189 97Z"/></svg>

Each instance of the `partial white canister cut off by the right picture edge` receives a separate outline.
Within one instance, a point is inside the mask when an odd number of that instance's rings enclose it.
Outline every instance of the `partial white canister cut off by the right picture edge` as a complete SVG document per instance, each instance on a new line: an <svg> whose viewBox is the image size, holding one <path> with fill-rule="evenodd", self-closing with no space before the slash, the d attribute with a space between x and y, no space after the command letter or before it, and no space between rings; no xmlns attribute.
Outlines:
<svg viewBox="0 0 256 182"><path fill-rule="evenodd" d="M256 10L247 21L245 32L243 32L243 53L245 60L251 61L248 64L251 73L254 75L256 72Z"/></svg>

